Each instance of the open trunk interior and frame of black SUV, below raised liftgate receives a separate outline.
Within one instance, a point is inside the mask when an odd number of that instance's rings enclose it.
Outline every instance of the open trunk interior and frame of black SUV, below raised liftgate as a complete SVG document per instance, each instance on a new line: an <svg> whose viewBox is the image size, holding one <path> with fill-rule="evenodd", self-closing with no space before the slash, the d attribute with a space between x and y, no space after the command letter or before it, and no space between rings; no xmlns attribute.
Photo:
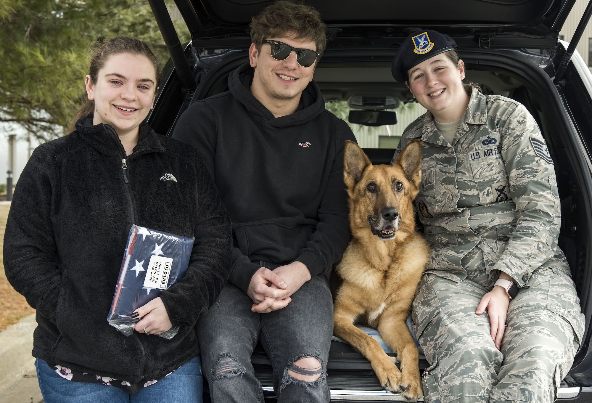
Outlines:
<svg viewBox="0 0 592 403"><path fill-rule="evenodd" d="M572 278L587 319L584 341L575 357L572 376L564 380L564 392L560 391L559 397L567 398L577 395L580 389L576 388L576 391L571 387L577 386L578 382L583 386L592 386L592 379L584 375L592 369L592 357L587 354L592 316L592 177L588 154L588 150L592 150L592 120L581 113L581 110L592 111L592 101L587 91L587 88L592 87L578 75L577 69L581 69L583 65L583 60L578 55L572 60L566 73L567 84L564 87L554 86L549 72L554 71L564 47L559 45L556 49L556 52L545 49L528 52L474 47L459 53L467 68L466 81L480 84L487 94L504 95L527 107L538 121L554 159L562 213L559 245L570 263ZM240 49L188 47L186 54L189 57L196 54L200 56L194 59L198 87L192 100L226 91L229 73L248 60L246 50ZM329 47L318 63L315 79L326 100L336 97L336 94L341 94L340 99L347 99L356 93L380 91L383 94L392 94L403 102L411 101L410 93L404 85L395 82L390 74L393 55L394 50L389 47ZM178 80L175 81L174 73L169 75L163 92L169 93L166 95L169 102L157 101L149 123L157 132L170 134L188 101L184 103L185 95ZM165 95L159 95L163 96ZM585 109L576 108L574 102L585 102L588 105ZM574 125L574 121L577 124ZM365 148L365 152L375 164L388 164L394 148ZM266 394L273 396L271 362L260 346L253 353L252 363ZM422 357L420 369L425 367L427 362ZM351 392L348 395L350 401L355 393L361 394L360 401L368 401L368 398L362 396L374 396L380 400L389 395L395 400L399 398L382 391L369 362L346 344L333 341L327 370L327 380L332 393L335 392L334 398L339 398L336 391L346 390Z"/></svg>

